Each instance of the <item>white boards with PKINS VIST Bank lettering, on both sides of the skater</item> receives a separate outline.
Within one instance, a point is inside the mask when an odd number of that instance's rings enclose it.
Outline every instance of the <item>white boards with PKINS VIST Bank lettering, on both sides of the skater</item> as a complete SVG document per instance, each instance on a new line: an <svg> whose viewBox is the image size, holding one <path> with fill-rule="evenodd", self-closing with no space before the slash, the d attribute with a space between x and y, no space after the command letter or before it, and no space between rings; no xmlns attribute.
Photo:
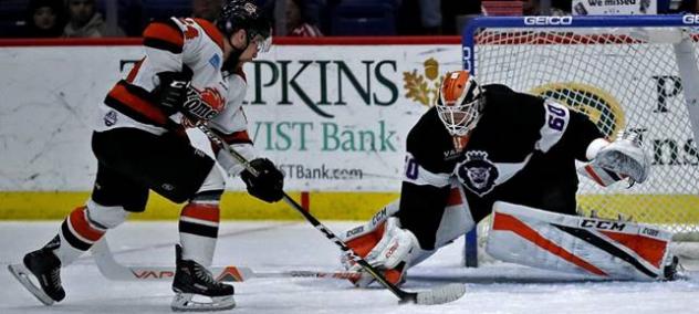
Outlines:
<svg viewBox="0 0 699 314"><path fill-rule="evenodd" d="M397 191L406 134L460 53L277 45L244 67L250 136L288 190ZM138 46L0 49L0 190L90 190L95 107L140 57Z"/></svg>

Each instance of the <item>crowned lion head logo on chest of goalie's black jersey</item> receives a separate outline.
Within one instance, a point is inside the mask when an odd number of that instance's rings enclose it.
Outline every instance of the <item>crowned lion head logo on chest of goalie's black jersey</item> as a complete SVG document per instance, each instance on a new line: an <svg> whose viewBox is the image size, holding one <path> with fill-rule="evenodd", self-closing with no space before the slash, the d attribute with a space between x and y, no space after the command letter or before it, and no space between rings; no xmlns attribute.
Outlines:
<svg viewBox="0 0 699 314"><path fill-rule="evenodd" d="M466 160L457 165L459 180L478 196L487 195L493 189L498 175L498 168L488 160L486 151L467 151Z"/></svg>

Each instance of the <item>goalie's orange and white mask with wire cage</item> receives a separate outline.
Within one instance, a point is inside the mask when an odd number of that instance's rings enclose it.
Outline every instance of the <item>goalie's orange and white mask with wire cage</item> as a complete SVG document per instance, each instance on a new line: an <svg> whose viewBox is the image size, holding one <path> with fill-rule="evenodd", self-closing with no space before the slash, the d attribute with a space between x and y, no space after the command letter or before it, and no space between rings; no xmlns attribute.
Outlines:
<svg viewBox="0 0 699 314"><path fill-rule="evenodd" d="M448 72L439 86L437 114L452 136L476 127L483 109L483 93L468 71Z"/></svg>

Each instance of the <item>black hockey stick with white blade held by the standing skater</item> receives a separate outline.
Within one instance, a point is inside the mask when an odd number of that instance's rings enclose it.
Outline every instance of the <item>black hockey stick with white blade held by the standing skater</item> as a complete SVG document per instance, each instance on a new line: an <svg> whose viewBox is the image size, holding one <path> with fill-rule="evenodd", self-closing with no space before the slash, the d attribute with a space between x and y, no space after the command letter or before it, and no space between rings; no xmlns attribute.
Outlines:
<svg viewBox="0 0 699 314"><path fill-rule="evenodd" d="M243 165L246 169L252 175L258 176L258 171L250 166L250 163L240 155L240 153L230 148L230 146L226 145L226 143L215 134L207 125L206 122L199 121L196 124L197 128L199 128L216 146L218 146L221 151L227 151L232 158L234 158L238 163ZM305 211L295 200L293 200L286 192L283 193L283 200L295 209L299 213L305 218L315 229L321 231L327 239L333 241L340 249L351 254L353 260L362 266L362 269L373 276L378 283L388 289L393 294L398 296L400 303L416 303L416 304L442 304L458 300L466 293L466 286L462 284L449 284L445 286L440 286L434 290L420 291L420 292L407 292L405 290L399 289L395 284L390 283L383 276L378 270L372 266L366 260L362 259L357 255L345 242L343 242L333 231L331 231L327 227L321 223L315 217Z"/></svg>

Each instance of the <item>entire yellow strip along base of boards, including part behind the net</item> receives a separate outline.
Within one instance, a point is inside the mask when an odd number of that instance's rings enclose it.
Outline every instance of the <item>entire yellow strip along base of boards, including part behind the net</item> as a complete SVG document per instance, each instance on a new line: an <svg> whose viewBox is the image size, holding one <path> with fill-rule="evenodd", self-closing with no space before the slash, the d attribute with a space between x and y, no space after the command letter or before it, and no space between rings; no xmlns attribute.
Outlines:
<svg viewBox="0 0 699 314"><path fill-rule="evenodd" d="M290 192L299 203L301 192ZM85 203L90 192L0 192L0 220L58 220L73 208ZM322 220L366 220L385 205L398 198L397 192L309 192L311 212ZM604 198L604 201L601 200ZM681 223L699 223L699 196L607 195L578 196L586 203L604 203L602 217L615 218L617 212L649 223L677 223L668 218L681 218ZM636 203L626 209L624 203ZM129 220L176 220L181 205L150 193L145 212L132 214ZM296 220L301 216L284 202L265 203L242 191L228 191L221 200L221 219L231 220Z"/></svg>

